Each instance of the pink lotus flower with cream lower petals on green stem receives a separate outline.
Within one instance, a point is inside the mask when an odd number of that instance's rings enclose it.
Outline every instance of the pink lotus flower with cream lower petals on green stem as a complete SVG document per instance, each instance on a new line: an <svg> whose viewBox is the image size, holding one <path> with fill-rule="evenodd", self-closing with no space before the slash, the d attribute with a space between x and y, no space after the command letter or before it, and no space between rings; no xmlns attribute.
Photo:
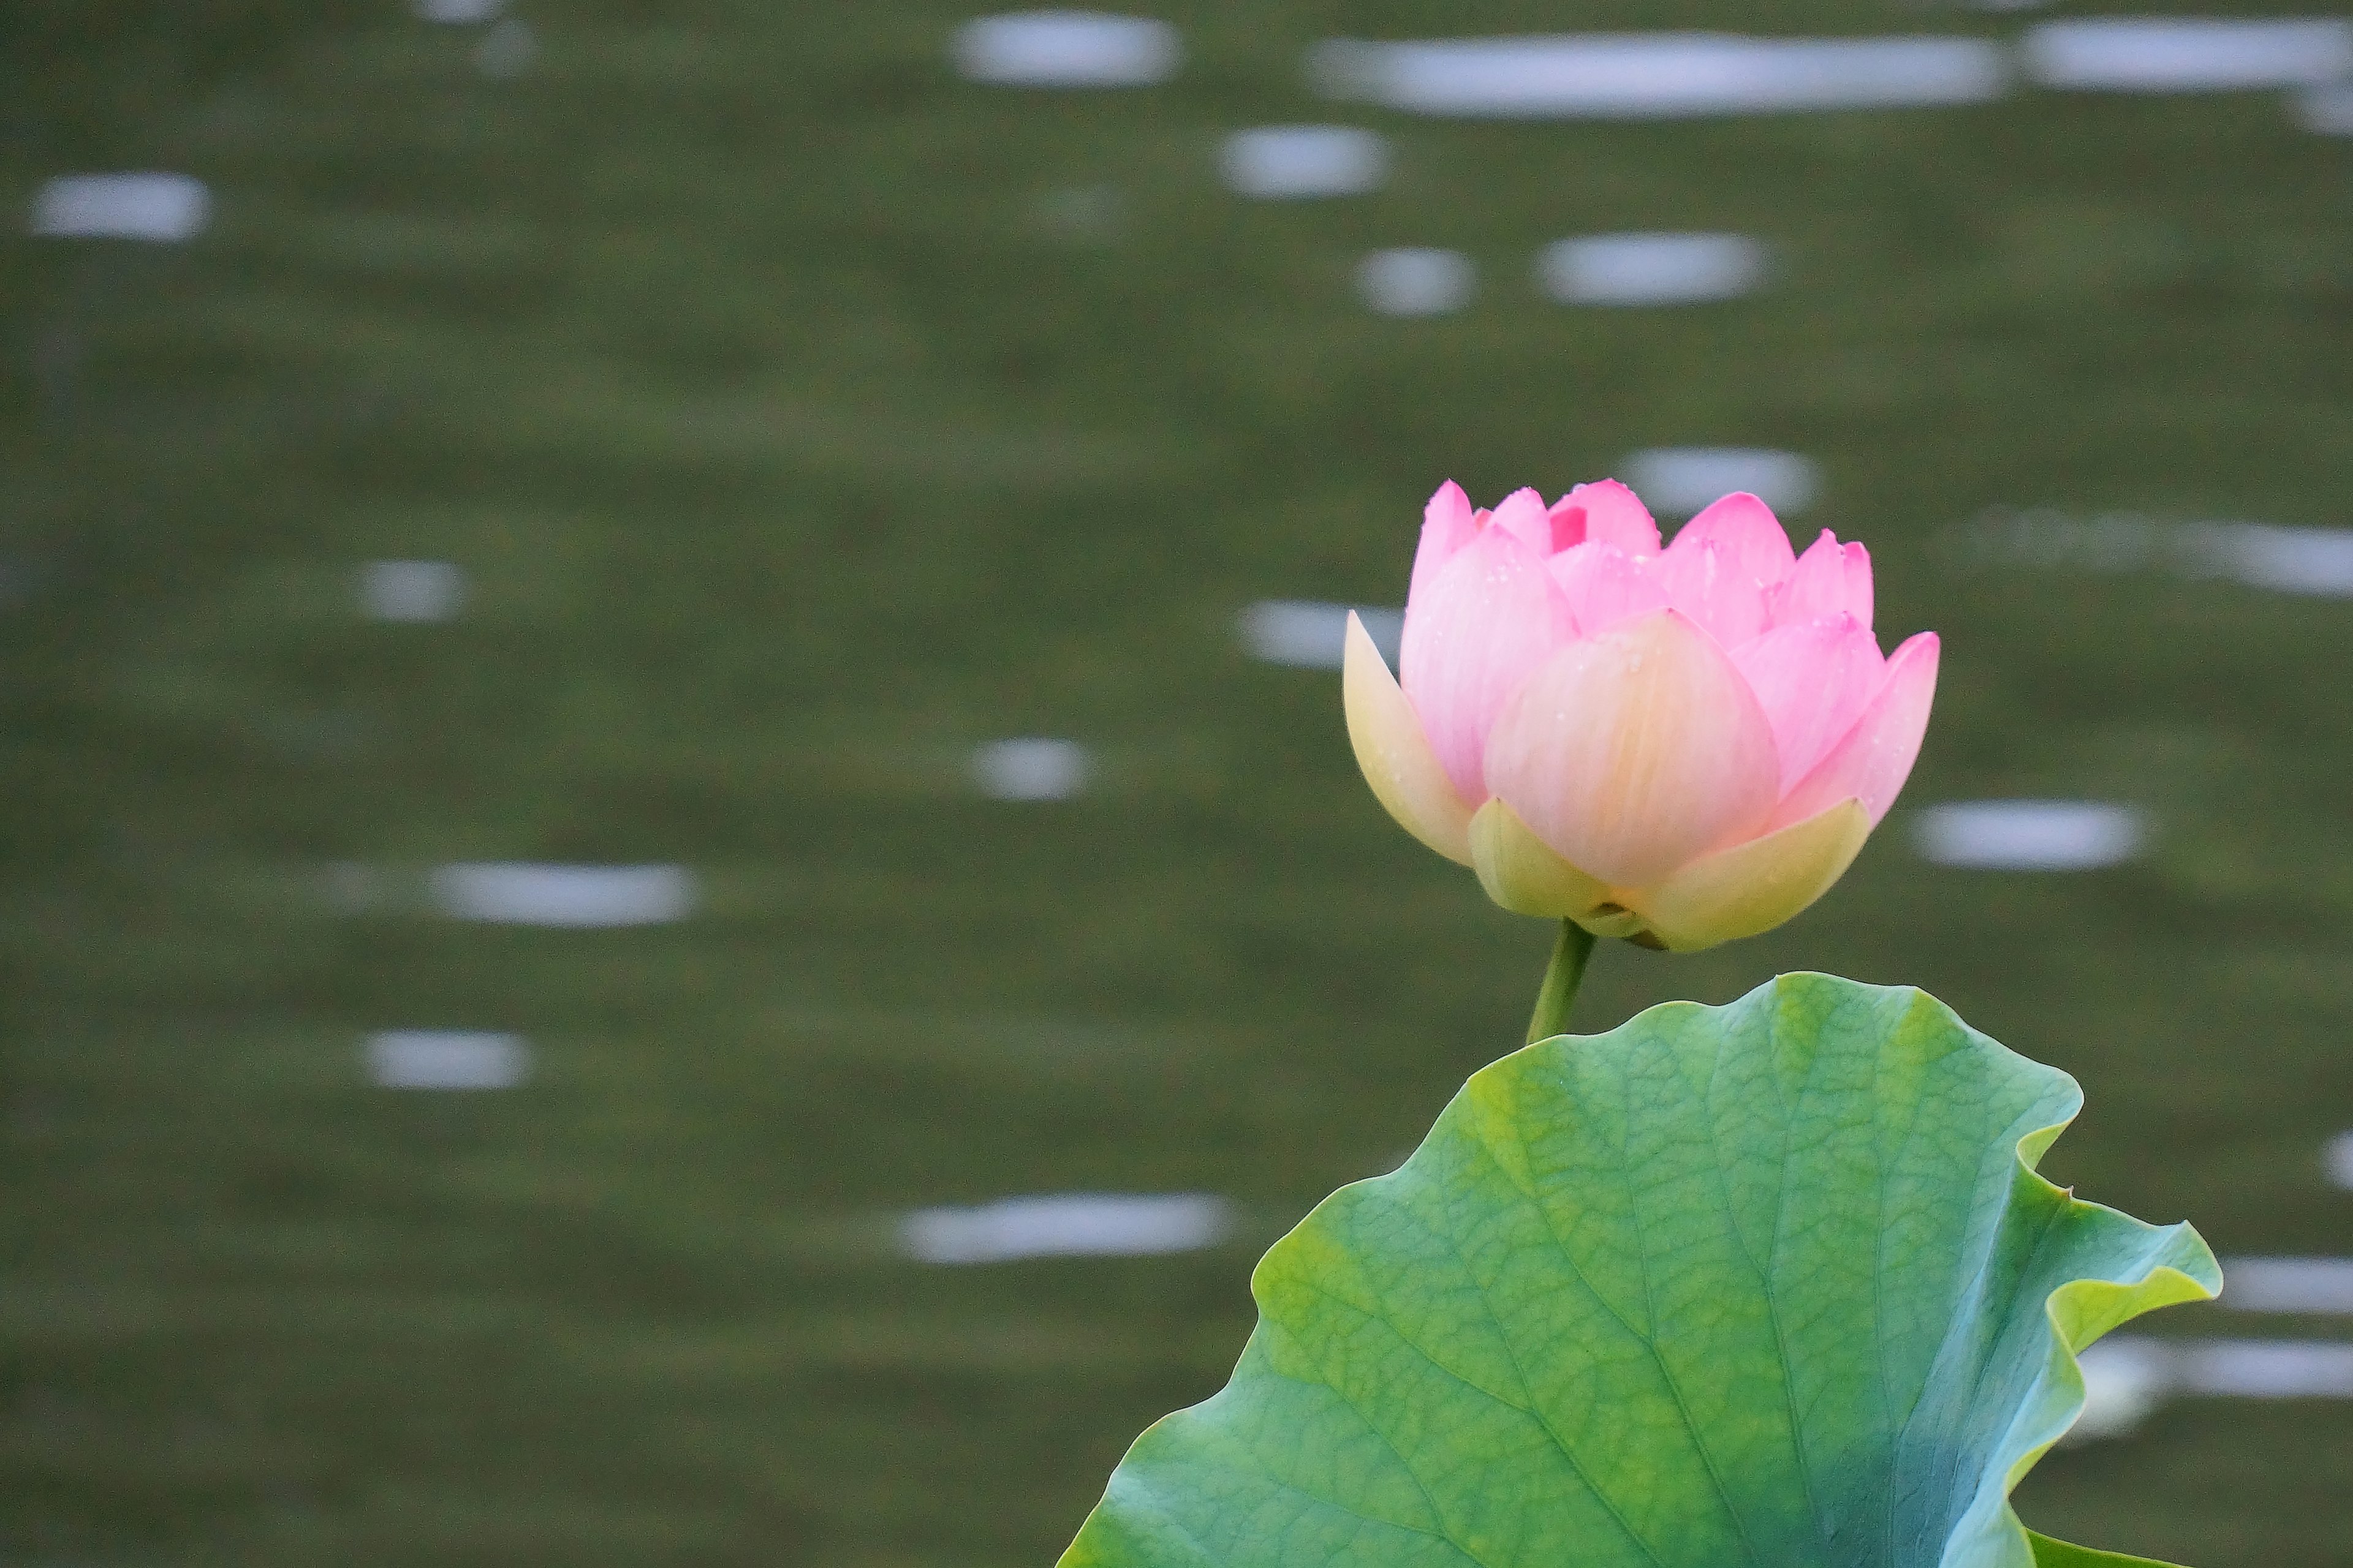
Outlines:
<svg viewBox="0 0 2353 1568"><path fill-rule="evenodd" d="M1920 755L1937 635L1880 656L1871 555L1755 496L1659 548L1617 480L1431 496L1391 677L1348 618L1348 738L1388 813L1520 914L1689 952L1821 898Z"/></svg>

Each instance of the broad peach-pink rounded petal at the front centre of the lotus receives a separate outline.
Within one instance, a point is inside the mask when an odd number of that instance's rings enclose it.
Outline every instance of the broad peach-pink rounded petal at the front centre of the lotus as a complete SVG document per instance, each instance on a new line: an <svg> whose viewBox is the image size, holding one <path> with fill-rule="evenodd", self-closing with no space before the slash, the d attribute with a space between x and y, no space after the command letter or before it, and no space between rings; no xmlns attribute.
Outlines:
<svg viewBox="0 0 2353 1568"><path fill-rule="evenodd" d="M1487 785L1553 853L1640 886L1765 825L1772 726L1722 649L1673 611L1567 644L1487 741Z"/></svg>

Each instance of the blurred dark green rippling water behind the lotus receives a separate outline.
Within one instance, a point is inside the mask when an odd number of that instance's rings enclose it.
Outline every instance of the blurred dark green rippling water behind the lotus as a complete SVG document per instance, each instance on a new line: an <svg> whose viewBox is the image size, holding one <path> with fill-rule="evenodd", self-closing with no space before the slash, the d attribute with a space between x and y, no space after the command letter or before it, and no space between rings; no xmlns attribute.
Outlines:
<svg viewBox="0 0 2353 1568"><path fill-rule="evenodd" d="M2353 24L2099 9L5 7L0 1561L1052 1561L1518 1044L1339 625L1602 475L1946 668L1579 1025L2080 1077L2233 1288L2021 1512L2353 1561Z"/></svg>

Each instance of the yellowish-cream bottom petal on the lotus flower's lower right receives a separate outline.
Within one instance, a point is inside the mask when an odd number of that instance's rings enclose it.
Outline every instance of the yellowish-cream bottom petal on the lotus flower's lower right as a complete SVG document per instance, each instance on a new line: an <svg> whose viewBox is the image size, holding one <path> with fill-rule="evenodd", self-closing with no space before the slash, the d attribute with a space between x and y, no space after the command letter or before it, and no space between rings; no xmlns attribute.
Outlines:
<svg viewBox="0 0 2353 1568"><path fill-rule="evenodd" d="M1626 905L1675 952L1772 931L1831 891L1871 837L1859 799L1692 860Z"/></svg>

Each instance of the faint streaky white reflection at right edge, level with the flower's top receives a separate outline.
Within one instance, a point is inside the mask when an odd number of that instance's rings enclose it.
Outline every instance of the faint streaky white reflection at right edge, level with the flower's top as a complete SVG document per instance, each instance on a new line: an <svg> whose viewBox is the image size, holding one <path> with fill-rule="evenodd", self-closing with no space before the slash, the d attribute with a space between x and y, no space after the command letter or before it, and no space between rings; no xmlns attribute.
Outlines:
<svg viewBox="0 0 2353 1568"><path fill-rule="evenodd" d="M1991 505L1946 536L1965 564L2075 571L2169 571L2233 578L2273 592L2353 597L2353 529L2268 522L2158 522L2141 512L2073 517L2057 508Z"/></svg>

